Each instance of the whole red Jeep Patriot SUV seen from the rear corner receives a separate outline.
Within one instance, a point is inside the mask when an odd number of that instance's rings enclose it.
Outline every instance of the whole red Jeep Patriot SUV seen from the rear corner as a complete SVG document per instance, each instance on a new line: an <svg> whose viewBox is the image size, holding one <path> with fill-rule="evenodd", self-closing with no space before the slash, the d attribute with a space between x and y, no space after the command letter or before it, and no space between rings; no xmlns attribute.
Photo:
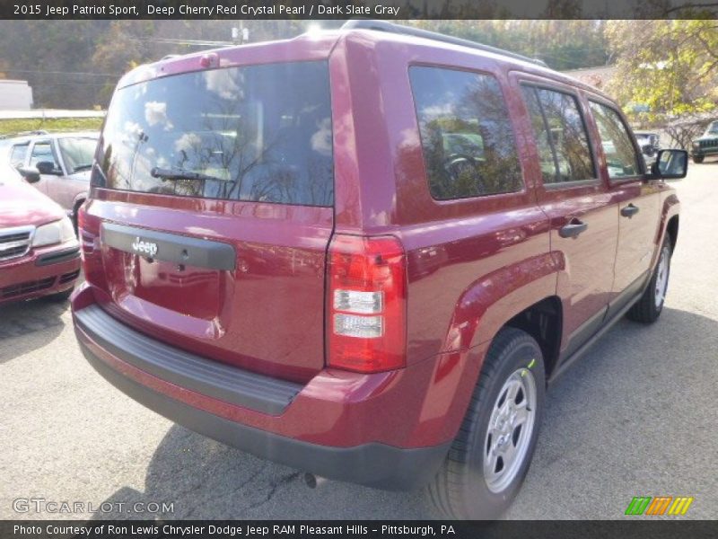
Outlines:
<svg viewBox="0 0 718 539"><path fill-rule="evenodd" d="M109 108L77 338L188 429L492 517L547 381L661 314L686 168L590 86L389 22L167 58Z"/></svg>

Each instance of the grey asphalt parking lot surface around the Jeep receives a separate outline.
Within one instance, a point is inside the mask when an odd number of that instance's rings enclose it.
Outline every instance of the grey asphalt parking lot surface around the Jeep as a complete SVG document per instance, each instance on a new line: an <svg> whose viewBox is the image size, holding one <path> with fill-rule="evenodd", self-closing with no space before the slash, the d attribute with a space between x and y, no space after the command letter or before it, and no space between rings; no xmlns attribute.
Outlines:
<svg viewBox="0 0 718 539"><path fill-rule="evenodd" d="M718 517L718 163L691 164L675 185L660 321L621 321L549 389L506 517L618 518L634 496L691 496L687 518ZM430 517L421 492L311 490L295 470L144 409L85 362L66 304L0 306L0 396L0 518ZM45 502L23 499L84 507L38 512Z"/></svg>

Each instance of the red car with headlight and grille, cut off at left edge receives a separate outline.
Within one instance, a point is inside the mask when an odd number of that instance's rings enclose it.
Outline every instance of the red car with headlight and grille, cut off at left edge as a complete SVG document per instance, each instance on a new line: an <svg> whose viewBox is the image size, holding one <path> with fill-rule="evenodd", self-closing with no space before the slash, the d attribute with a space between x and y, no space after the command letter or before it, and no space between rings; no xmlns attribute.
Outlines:
<svg viewBox="0 0 718 539"><path fill-rule="evenodd" d="M0 304L66 300L80 275L73 224L55 202L9 165L0 167Z"/></svg>

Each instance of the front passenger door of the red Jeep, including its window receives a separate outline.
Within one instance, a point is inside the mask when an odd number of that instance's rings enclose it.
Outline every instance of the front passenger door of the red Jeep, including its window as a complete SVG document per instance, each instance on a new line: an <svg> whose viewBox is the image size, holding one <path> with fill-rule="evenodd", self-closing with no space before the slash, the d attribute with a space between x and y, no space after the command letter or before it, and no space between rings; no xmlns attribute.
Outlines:
<svg viewBox="0 0 718 539"><path fill-rule="evenodd" d="M641 290L656 249L661 182L645 181L641 154L617 108L589 100L601 141L601 167L618 204L618 248L609 314L614 314Z"/></svg>

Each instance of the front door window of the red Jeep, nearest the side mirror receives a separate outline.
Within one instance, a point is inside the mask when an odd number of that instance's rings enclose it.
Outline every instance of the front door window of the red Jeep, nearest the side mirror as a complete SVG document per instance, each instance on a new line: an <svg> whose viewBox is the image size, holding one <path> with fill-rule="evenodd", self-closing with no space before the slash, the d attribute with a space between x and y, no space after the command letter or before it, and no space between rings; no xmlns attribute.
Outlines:
<svg viewBox="0 0 718 539"><path fill-rule="evenodd" d="M613 180L640 174L638 155L635 154L631 136L617 111L606 105L591 102L591 112L599 127L609 178Z"/></svg>

